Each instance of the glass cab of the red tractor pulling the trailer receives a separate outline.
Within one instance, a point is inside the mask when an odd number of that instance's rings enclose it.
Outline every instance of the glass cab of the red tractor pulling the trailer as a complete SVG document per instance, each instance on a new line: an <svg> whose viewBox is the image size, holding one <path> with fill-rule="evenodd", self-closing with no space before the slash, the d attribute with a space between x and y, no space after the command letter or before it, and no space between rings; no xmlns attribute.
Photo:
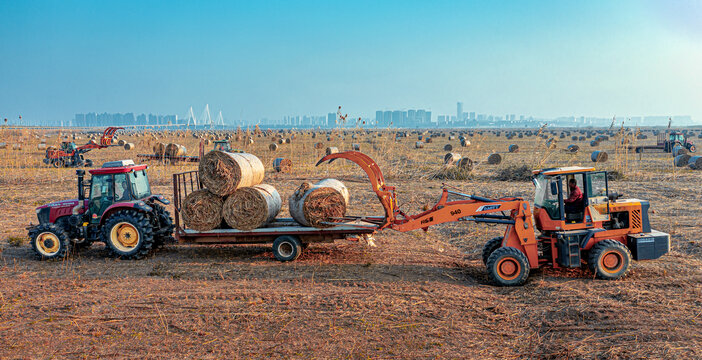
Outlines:
<svg viewBox="0 0 702 360"><path fill-rule="evenodd" d="M99 223L105 211L114 204L151 196L146 165L134 165L131 160L110 161L100 169L90 170L90 174L88 215L91 223Z"/></svg>

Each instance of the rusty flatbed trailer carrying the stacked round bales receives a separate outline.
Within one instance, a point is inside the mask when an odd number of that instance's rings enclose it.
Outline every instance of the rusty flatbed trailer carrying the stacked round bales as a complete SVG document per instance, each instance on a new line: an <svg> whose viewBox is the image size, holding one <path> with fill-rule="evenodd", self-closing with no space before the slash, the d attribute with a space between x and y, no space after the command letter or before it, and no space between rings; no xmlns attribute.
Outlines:
<svg viewBox="0 0 702 360"><path fill-rule="evenodd" d="M198 171L173 174L173 216L175 238L179 244L268 244L272 243L273 254L280 261L297 259L311 243L329 243L334 240L368 239L377 230L377 225L361 224L358 221L339 223L328 228L302 226L292 218L278 218L265 227L253 230L215 229L197 231L188 229L181 221L183 199L202 189Z"/></svg>

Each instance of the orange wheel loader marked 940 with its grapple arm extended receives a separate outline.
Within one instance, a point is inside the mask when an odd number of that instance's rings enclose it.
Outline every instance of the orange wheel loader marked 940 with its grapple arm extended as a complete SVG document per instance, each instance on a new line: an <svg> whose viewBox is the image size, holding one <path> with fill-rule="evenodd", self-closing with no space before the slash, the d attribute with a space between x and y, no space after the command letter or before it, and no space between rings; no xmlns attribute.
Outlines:
<svg viewBox="0 0 702 360"><path fill-rule="evenodd" d="M385 216L333 220L363 221L377 230L390 228L401 232L426 231L429 226L454 221L505 224L504 235L488 241L482 254L488 275L499 285L521 285L530 269L545 265L554 268L587 265L598 278L618 279L628 273L632 258L656 259L670 248L670 235L650 228L648 202L609 196L606 172L594 168L534 171L533 212L529 202L521 198L489 199L444 187L432 208L408 215L397 206L395 187L385 184L380 168L368 155L340 152L323 157L317 165L340 158L353 161L366 172ZM571 179L579 180L585 191L581 208L566 213L567 190L563 181ZM450 195L462 199L449 201Z"/></svg>

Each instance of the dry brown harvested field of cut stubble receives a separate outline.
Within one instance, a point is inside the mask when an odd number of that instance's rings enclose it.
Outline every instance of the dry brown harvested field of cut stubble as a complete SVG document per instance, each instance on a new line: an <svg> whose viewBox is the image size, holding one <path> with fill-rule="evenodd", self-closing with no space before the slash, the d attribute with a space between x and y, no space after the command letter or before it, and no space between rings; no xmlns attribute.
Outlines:
<svg viewBox="0 0 702 360"><path fill-rule="evenodd" d="M524 286L501 288L488 282L480 252L504 227L455 223L426 233L383 231L377 247L312 245L291 263L275 261L268 245L168 245L146 259L124 261L105 257L102 244L64 261L41 262L25 227L37 223L35 207L76 197L75 170L41 162L40 138L47 134L47 144L58 145L57 134L0 129L0 142L8 144L0 149L0 358L701 358L702 171L674 167L670 154L617 148L615 134L591 147L592 138L572 141L585 134L569 131L564 138L561 130L542 132L555 137L554 149L535 135L507 139L505 130L499 136L435 131L422 149L415 148L413 131L399 141L395 131L335 130L329 140L326 132L312 138L298 131L281 134L291 142L274 152L269 145L277 132L251 131L248 145L245 132L238 141L230 134L233 147L266 165L264 182L283 197L281 216L288 215L287 198L301 182L326 177L349 187L350 214L382 214L355 164L314 166L328 146L359 144L397 186L407 213L432 205L442 183L469 194L532 199L529 181L500 181L500 172L593 165L590 153L606 150L609 160L596 167L622 175L610 181L611 190L650 200L652 227L671 234L669 254L634 262L622 280L543 269ZM191 131L124 134L120 139L136 149L93 150L86 157L96 165L136 161L138 153L151 153L156 138L198 154L200 140ZM461 147L461 134L469 146ZM625 137L632 144L655 143L648 135ZM13 150L21 141L22 150ZM86 141L83 135L76 143ZM476 162L472 172L437 178L447 144ZM510 144L519 152L508 153ZM569 144L580 152L563 151ZM493 152L501 154L501 164L487 164ZM291 173L273 170L277 157L292 160ZM149 165L152 191L168 198L171 175L197 169L196 163Z"/></svg>

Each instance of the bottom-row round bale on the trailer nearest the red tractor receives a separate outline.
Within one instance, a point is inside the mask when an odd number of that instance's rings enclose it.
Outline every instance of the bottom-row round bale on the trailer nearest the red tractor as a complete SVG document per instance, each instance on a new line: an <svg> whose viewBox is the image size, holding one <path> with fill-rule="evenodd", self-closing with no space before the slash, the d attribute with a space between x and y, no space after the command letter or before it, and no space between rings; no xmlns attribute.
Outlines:
<svg viewBox="0 0 702 360"><path fill-rule="evenodd" d="M207 189L193 191L183 199L183 223L197 230L216 229L222 223L222 198Z"/></svg>

